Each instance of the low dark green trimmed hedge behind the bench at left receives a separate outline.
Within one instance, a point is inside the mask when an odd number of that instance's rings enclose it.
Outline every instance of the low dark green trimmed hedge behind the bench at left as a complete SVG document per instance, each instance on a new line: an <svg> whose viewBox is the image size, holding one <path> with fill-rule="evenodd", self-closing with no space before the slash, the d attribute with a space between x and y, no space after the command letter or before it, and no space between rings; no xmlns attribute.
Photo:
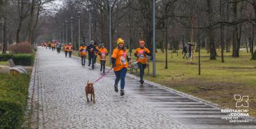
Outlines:
<svg viewBox="0 0 256 129"><path fill-rule="evenodd" d="M33 66L34 54L0 54L0 61L13 59L17 66Z"/></svg>

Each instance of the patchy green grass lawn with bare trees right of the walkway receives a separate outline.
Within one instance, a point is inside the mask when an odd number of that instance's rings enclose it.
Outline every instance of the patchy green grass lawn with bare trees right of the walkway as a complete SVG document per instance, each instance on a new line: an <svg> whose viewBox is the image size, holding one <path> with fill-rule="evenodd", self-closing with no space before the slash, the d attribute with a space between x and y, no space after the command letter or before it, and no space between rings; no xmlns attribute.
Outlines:
<svg viewBox="0 0 256 129"><path fill-rule="evenodd" d="M73 51L73 54L77 56L77 52ZM198 75L198 53L195 55L195 64L188 65L188 60L182 58L181 50L179 56L176 53L171 56L168 51L168 68L165 69L165 52L158 50L156 78L152 77L151 61L149 77L145 79L218 103L223 108L235 109L235 94L248 95L249 114L256 117L256 61L250 60L250 53L244 50L240 51L239 58L233 58L232 52L224 53L224 63L221 63L219 50L217 60L210 60L209 54L201 50L201 75ZM131 57L135 59L133 53ZM109 66L108 60L106 66Z"/></svg>

